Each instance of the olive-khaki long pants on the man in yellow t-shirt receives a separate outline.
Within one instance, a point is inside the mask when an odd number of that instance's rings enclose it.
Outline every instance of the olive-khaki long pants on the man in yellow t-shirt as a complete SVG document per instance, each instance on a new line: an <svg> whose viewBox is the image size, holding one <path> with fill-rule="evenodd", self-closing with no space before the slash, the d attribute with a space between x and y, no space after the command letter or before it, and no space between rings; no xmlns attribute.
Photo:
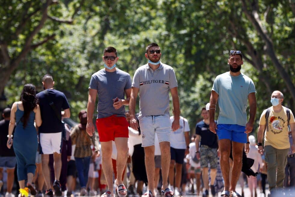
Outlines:
<svg viewBox="0 0 295 197"><path fill-rule="evenodd" d="M267 164L267 180L269 190L275 187L283 187L285 178L285 167L289 148L277 149L270 145L264 147L265 162Z"/></svg>

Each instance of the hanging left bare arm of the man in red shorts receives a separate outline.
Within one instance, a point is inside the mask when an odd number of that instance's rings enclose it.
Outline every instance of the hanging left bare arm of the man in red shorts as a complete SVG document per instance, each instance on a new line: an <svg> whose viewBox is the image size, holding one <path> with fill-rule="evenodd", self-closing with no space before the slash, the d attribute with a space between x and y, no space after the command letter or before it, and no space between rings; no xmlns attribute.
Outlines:
<svg viewBox="0 0 295 197"><path fill-rule="evenodd" d="M94 133L94 125L92 122L93 111L95 107L95 100L96 100L97 90L89 89L88 93L88 103L87 103L87 125L86 125L86 132L88 135L92 136Z"/></svg>

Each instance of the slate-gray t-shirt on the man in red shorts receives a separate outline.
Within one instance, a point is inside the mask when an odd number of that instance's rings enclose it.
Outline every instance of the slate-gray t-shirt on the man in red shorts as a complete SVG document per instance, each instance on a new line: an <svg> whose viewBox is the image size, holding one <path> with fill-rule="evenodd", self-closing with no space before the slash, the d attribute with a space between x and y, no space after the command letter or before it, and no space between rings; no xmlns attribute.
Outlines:
<svg viewBox="0 0 295 197"><path fill-rule="evenodd" d="M125 106L120 109L113 107L113 99L118 97L124 99L126 89L131 88L131 78L127 72L118 68L114 72L107 72L105 69L94 73L91 76L89 89L97 90L97 118L105 118L112 115L125 116Z"/></svg>

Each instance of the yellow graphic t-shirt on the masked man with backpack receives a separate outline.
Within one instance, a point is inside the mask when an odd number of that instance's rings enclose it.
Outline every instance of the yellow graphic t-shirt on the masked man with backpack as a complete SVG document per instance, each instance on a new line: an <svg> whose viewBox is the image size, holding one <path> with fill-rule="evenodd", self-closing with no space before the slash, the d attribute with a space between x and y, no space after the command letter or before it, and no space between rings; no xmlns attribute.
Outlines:
<svg viewBox="0 0 295 197"><path fill-rule="evenodd" d="M260 116L259 125L265 125L265 113L264 110ZM292 111L290 110L290 121L289 123L295 122ZM268 117L268 131L265 130L264 145L271 145L277 149L290 148L289 142L289 130L287 126L287 112L286 107L283 106L283 110L275 113L273 106L270 109Z"/></svg>

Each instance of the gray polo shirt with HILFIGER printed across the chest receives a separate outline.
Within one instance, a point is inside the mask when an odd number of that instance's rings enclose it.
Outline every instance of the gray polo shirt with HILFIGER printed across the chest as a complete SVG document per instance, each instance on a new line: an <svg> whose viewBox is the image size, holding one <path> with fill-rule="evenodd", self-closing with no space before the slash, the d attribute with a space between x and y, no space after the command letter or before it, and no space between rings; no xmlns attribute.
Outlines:
<svg viewBox="0 0 295 197"><path fill-rule="evenodd" d="M164 115L169 113L169 91L177 87L175 72L162 62L155 71L143 65L135 71L132 87L139 88L139 117Z"/></svg>

